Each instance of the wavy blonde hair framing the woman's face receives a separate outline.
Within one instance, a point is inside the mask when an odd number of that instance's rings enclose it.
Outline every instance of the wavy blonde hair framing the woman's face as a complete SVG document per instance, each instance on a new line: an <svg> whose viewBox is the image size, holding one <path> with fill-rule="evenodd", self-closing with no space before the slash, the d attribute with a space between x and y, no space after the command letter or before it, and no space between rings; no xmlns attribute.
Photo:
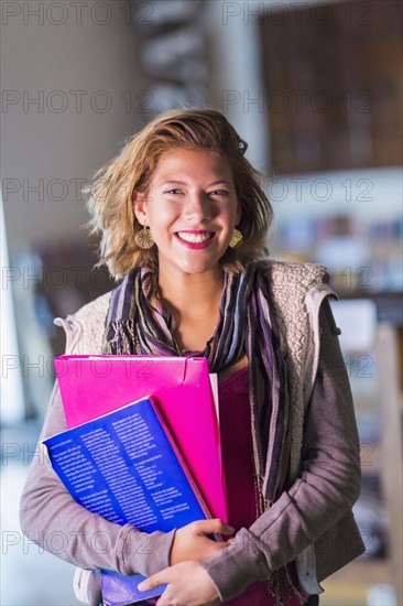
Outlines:
<svg viewBox="0 0 403 606"><path fill-rule="evenodd" d="M260 185L262 175L244 158L248 144L218 111L175 109L160 115L129 139L121 152L95 174L87 190L89 227L92 234L100 234L98 266L107 264L117 280L143 261L157 267L156 246L143 250L135 244L142 226L134 215L133 195L148 193L161 155L175 148L217 152L232 169L241 209L237 228L243 240L227 249L221 267L238 273L247 263L268 255L273 210Z"/></svg>

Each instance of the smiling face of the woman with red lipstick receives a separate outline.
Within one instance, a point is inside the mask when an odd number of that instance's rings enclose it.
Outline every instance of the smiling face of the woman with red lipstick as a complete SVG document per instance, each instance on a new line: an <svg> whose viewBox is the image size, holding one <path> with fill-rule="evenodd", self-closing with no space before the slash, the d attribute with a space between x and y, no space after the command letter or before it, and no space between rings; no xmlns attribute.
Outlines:
<svg viewBox="0 0 403 606"><path fill-rule="evenodd" d="M216 271L240 219L229 162L208 150L163 153L134 213L151 228L160 273Z"/></svg>

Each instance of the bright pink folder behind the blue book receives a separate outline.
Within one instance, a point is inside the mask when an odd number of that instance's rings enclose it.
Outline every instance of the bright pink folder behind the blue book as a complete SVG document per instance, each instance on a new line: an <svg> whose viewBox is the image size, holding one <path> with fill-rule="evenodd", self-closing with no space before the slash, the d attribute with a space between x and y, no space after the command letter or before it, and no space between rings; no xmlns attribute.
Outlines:
<svg viewBox="0 0 403 606"><path fill-rule="evenodd" d="M228 521L205 358L58 356L54 364L68 428L152 394L213 517Z"/></svg>

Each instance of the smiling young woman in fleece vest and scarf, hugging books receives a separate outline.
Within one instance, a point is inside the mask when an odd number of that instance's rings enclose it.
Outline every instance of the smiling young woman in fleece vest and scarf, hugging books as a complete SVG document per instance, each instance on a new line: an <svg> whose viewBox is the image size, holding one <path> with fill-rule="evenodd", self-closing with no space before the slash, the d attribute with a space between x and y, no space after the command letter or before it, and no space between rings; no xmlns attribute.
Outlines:
<svg viewBox="0 0 403 606"><path fill-rule="evenodd" d="M265 259L272 208L246 150L213 110L166 112L133 137L89 204L102 260L122 281L58 320L68 353L208 358L232 528L197 521L139 550L144 533L81 508L40 457L21 502L23 531L61 558L140 572L143 588L167 583L159 606L317 604L320 580L363 551L333 292L323 267ZM56 386L41 439L64 429ZM233 535L217 543L211 532Z"/></svg>

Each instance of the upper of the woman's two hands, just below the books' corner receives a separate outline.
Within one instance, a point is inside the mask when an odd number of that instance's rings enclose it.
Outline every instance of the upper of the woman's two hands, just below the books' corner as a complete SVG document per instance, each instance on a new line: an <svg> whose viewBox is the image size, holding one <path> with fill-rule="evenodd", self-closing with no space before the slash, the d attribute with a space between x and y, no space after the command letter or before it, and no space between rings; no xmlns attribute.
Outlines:
<svg viewBox="0 0 403 606"><path fill-rule="evenodd" d="M235 531L219 518L198 520L179 528L171 548L170 564L178 564L188 560L205 560L226 547L225 541L213 541L206 534L232 534Z"/></svg>

